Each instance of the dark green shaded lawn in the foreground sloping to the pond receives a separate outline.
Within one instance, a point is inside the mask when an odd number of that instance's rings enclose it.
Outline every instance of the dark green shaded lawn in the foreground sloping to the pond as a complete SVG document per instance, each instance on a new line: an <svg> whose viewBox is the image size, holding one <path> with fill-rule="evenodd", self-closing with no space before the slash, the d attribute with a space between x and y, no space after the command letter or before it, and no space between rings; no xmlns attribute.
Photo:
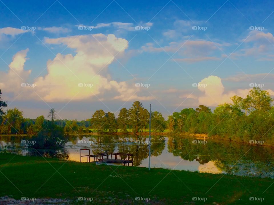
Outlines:
<svg viewBox="0 0 274 205"><path fill-rule="evenodd" d="M0 196L16 199L66 198L83 204L78 201L82 196L92 197L92 204L271 204L274 198L274 185L270 186L274 180L269 178L148 171L10 153L0 153L0 170ZM136 201L137 196L149 197L150 201ZM207 200L193 201L195 196ZM264 201L249 201L251 196L263 197Z"/></svg>

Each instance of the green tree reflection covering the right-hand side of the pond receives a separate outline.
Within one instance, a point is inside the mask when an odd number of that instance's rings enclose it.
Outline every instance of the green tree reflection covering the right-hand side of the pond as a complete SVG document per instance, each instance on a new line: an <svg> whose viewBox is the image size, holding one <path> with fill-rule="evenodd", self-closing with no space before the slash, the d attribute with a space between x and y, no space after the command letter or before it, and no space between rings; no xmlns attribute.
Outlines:
<svg viewBox="0 0 274 205"><path fill-rule="evenodd" d="M212 139L207 140L206 144L194 144L192 140L194 138L170 136L167 142L168 151L184 160L196 160L201 165L212 161L220 171L227 174L273 178L272 147Z"/></svg>

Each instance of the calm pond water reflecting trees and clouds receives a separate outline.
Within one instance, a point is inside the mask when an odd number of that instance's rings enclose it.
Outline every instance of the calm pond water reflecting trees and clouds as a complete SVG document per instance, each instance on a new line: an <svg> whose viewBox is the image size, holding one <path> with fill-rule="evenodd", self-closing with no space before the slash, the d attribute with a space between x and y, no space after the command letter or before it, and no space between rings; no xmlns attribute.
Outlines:
<svg viewBox="0 0 274 205"><path fill-rule="evenodd" d="M22 139L18 136L0 137L1 151L6 149L9 152L19 152L22 155L43 155L44 157L58 157L73 161L80 161L81 148L90 149L91 154L104 151L132 153L134 166L148 167L148 138L146 137L126 135L69 136L64 149L58 151L39 150L39 153L36 150L27 149L25 145L21 144ZM193 140L198 143L193 143ZM207 139L205 143L204 140L188 136L152 136L151 151L151 168L274 178L273 147L216 139ZM82 161L86 160L86 157L82 158Z"/></svg>

